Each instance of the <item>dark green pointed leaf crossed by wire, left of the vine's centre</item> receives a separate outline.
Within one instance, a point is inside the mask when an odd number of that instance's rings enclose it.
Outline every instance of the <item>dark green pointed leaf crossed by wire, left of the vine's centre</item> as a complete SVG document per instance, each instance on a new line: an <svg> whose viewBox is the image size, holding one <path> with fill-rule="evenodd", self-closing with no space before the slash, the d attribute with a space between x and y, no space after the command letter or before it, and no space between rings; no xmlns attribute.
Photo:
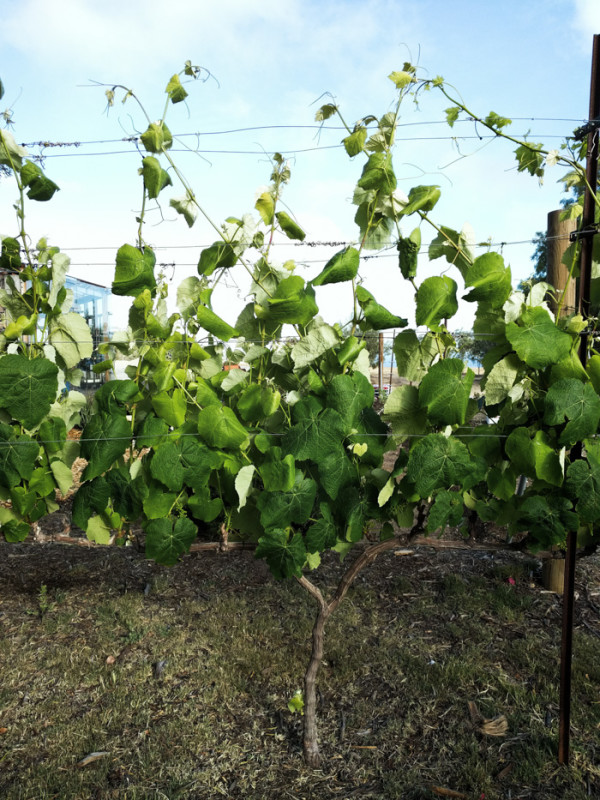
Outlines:
<svg viewBox="0 0 600 800"><path fill-rule="evenodd" d="M95 414L81 434L81 457L88 462L82 480L102 475L131 444L131 428L121 415Z"/></svg>

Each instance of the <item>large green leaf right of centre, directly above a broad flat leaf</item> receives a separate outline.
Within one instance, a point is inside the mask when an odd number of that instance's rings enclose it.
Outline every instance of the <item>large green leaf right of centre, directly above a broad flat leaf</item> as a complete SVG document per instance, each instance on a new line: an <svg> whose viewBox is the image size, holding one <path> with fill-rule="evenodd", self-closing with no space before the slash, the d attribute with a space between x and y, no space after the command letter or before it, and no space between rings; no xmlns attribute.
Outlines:
<svg viewBox="0 0 600 800"><path fill-rule="evenodd" d="M475 379L468 369L463 379L464 364L457 358L438 361L419 386L419 404L427 408L427 416L434 425L463 425L471 387Z"/></svg>

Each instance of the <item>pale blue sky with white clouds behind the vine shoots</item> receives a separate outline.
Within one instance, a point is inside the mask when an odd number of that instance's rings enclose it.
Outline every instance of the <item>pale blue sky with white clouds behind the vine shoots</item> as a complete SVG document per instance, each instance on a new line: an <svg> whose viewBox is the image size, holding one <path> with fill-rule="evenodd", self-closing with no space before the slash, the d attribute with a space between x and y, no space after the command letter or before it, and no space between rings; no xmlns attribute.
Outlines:
<svg viewBox="0 0 600 800"><path fill-rule="evenodd" d="M213 132L311 125L315 101L326 91L335 95L349 123L370 113L380 116L394 99L386 76L412 60L425 74L442 75L453 84L475 112L493 109L515 120L514 134L530 131L533 141L557 146L559 139L551 137L568 135L577 122L543 120L587 116L592 36L600 33L597 0L0 0L0 9L0 77L6 90L0 104L12 109L17 141L118 140L143 130L143 118L130 103L117 102L104 113L104 90L90 80L133 88L154 119L162 113L167 80L190 59L216 80L191 87L188 107L181 104L170 112L171 130L202 132L202 150L296 151L290 155L292 181L285 200L312 241L356 236L350 198L362 164L335 148L297 152L337 145L341 132L323 131L318 141L308 128ZM430 124L402 128L398 138L472 135L469 125L450 131L438 124L444 105L425 96L420 110L408 109L402 122ZM461 139L459 147L468 158L457 160L456 144L449 139L399 141L395 165L401 188L408 192L416 184L439 184L443 195L436 219L455 228L470 223L477 241L527 241L545 228L547 212L561 199L558 169L540 187L517 174L511 147L504 143L481 148L477 140ZM89 155L121 150L128 152ZM44 153L50 156L46 173L61 191L50 203L31 204L29 232L33 239L47 235L68 252L73 274L108 284L114 252L135 237L139 156L119 142ZM264 155L181 153L178 159L217 223L251 211L257 189L269 178ZM16 230L14 194L8 181L0 183L3 235ZM160 213L152 214L158 223ZM214 237L200 221L188 230L168 207L164 215L173 221L149 225L146 238L161 248L160 261L178 264L177 283L194 274L200 245ZM173 245L178 249L169 250ZM108 249L76 249L96 247ZM530 244L504 247L515 280L531 271L532 251ZM280 252L282 261L312 262L300 268L308 278L334 251L282 247ZM422 269L421 278L440 265ZM364 275L380 302L401 315L410 313L412 300L394 258L368 262ZM217 301L217 310L229 319L245 294L242 277L231 278ZM318 300L328 321L347 316L347 298L338 289L324 287ZM120 317L115 307L115 327ZM466 308L456 322L469 324Z"/></svg>

